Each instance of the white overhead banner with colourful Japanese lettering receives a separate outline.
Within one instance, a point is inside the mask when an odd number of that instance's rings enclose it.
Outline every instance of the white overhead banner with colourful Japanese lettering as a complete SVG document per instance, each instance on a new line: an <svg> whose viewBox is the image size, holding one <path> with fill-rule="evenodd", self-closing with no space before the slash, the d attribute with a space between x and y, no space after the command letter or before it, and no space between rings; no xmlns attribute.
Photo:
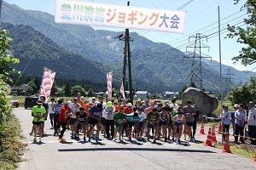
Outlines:
<svg viewBox="0 0 256 170"><path fill-rule="evenodd" d="M184 33L185 11L55 0L55 22Z"/></svg>

